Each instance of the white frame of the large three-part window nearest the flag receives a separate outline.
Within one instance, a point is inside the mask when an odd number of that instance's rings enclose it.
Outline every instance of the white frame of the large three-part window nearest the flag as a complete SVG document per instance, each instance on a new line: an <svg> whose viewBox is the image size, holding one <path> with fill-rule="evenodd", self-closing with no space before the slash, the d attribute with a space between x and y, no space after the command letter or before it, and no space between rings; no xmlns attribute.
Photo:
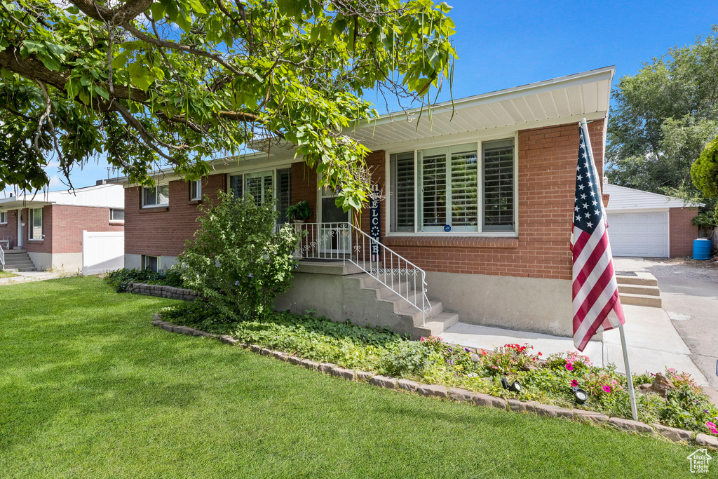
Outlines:
<svg viewBox="0 0 718 479"><path fill-rule="evenodd" d="M484 211L482 205L482 198L484 195L483 188L483 157L482 157L482 144L488 141L495 141L501 139L513 139L513 230L505 231L483 231L484 222ZM462 137L452 141L415 141L414 144L410 144L408 147L398 147L392 149L386 149L385 151L385 185L388 185L387 191L390 193L386 195L386 205L384 206L384 227L386 228L386 236L478 236L478 237L498 237L498 238L518 238L518 131L507 132L505 134L493 134L479 137ZM419 194L421 192L421 185L419 182L419 152L426 149L435 148L452 148L460 145L475 143L477 152L477 205L478 205L478 225L476 231L457 231L456 228L452 228L452 231L446 233L444 231L421 231L421 204L419 201ZM411 147L414 147L413 149ZM393 167L391 164L391 155L414 152L414 231L391 231L393 223L393 192L390 188L393 185Z"/></svg>

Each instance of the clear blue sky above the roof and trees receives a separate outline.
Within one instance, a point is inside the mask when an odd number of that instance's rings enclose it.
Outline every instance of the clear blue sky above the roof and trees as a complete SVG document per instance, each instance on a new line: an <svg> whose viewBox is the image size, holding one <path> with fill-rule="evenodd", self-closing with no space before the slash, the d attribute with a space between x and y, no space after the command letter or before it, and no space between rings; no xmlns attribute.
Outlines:
<svg viewBox="0 0 718 479"><path fill-rule="evenodd" d="M716 1L448 1L457 25L454 98L616 66L616 80L718 24ZM615 84L615 82L614 82ZM383 101L378 103L382 111ZM447 92L440 100L448 100ZM75 187L107 177L107 165L76 168ZM50 190L63 189L56 167Z"/></svg>

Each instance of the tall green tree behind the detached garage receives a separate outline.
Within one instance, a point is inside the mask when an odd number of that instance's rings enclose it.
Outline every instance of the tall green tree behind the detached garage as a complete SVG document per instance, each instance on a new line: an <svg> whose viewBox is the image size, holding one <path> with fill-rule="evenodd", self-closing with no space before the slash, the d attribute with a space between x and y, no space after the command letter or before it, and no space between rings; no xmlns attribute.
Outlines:
<svg viewBox="0 0 718 479"><path fill-rule="evenodd" d="M607 129L610 182L714 208L694 185L691 164L718 134L717 32L619 80Z"/></svg>

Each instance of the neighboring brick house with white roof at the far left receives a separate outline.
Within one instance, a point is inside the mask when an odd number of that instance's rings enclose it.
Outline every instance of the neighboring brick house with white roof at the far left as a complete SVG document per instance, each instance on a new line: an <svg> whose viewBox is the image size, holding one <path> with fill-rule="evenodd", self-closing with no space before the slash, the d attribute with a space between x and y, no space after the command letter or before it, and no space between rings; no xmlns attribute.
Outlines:
<svg viewBox="0 0 718 479"><path fill-rule="evenodd" d="M123 188L98 183L0 199L6 269L82 269L83 231L123 231Z"/></svg>

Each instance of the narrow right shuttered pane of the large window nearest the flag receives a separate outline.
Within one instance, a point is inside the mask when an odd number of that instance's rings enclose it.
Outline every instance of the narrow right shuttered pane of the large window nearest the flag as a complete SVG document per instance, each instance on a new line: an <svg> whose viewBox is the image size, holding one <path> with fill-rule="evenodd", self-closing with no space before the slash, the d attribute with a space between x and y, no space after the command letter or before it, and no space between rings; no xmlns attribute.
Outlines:
<svg viewBox="0 0 718 479"><path fill-rule="evenodd" d="M513 139L485 141L483 231L513 231Z"/></svg>

